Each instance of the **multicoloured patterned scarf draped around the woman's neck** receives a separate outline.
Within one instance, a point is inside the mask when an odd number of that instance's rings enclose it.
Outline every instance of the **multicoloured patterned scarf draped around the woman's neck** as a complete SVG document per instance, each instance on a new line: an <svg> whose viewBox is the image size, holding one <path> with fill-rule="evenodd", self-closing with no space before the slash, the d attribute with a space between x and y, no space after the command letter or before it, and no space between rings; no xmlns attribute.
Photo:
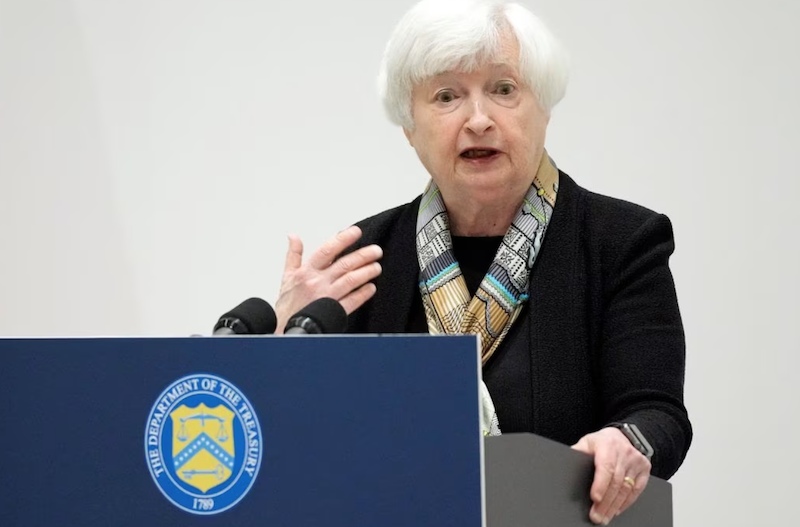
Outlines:
<svg viewBox="0 0 800 527"><path fill-rule="evenodd" d="M486 364L528 299L528 278L553 216L557 180L558 171L545 152L534 183L472 298L455 260L439 187L433 181L428 184L417 217L417 257L422 305L431 335L479 335L481 360Z"/></svg>

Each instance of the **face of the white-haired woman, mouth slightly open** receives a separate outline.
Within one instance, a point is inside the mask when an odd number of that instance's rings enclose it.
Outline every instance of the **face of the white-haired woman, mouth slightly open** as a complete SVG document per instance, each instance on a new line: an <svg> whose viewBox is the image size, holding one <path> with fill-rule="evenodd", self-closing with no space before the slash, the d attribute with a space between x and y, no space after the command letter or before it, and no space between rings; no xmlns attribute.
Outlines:
<svg viewBox="0 0 800 527"><path fill-rule="evenodd" d="M404 130L448 206L521 200L544 151L548 116L518 71L516 39L474 71L449 71L412 92Z"/></svg>

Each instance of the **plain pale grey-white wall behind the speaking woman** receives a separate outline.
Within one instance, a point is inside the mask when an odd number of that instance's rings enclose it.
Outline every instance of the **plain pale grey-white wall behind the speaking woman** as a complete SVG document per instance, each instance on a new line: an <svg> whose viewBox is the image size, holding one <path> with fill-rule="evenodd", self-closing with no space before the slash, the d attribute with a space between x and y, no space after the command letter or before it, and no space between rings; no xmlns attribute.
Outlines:
<svg viewBox="0 0 800 527"><path fill-rule="evenodd" d="M427 180L375 90L409 0L0 0L0 335L208 332ZM680 527L797 523L800 3L536 0L548 149L664 212L695 441Z"/></svg>

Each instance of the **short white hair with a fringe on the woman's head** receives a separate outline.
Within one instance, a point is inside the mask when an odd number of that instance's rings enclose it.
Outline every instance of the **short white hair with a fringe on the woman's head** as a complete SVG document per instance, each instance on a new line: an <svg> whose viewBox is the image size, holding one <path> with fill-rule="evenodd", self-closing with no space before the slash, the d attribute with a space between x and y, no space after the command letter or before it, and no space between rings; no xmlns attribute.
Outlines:
<svg viewBox="0 0 800 527"><path fill-rule="evenodd" d="M414 85L476 68L497 54L508 29L519 43L520 74L549 114L566 92L569 59L536 15L505 0L422 0L398 22L383 54L378 91L389 119L413 130Z"/></svg>

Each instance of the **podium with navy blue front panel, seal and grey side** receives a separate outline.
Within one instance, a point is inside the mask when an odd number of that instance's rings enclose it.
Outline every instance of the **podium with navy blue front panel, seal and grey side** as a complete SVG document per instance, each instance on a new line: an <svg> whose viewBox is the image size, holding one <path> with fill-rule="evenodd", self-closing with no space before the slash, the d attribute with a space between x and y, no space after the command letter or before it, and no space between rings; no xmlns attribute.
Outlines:
<svg viewBox="0 0 800 527"><path fill-rule="evenodd" d="M471 336L0 339L0 525L591 525L589 456L484 438ZM671 525L668 483L614 524Z"/></svg>

